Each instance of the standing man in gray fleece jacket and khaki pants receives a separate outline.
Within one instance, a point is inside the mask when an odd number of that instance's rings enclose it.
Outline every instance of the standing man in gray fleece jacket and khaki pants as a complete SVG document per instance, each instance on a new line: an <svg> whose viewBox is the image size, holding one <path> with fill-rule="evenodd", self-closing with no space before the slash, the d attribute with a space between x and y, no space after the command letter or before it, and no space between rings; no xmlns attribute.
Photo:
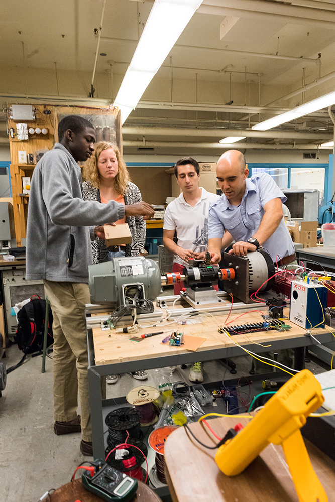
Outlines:
<svg viewBox="0 0 335 502"><path fill-rule="evenodd" d="M86 161L94 151L95 131L84 118L70 115L59 123L58 137L59 143L37 163L32 177L26 279L43 279L54 318L54 431L81 431L81 452L92 455L84 318L85 304L90 303L90 241L94 235L104 238L103 224L124 215L153 217L154 210L146 202L124 206L84 201L77 162Z"/></svg>

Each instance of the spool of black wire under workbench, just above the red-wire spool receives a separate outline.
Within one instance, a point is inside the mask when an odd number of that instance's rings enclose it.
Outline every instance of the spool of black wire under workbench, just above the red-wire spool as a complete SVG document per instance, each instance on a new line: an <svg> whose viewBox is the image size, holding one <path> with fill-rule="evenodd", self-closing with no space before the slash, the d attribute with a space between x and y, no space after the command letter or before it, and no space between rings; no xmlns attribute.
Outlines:
<svg viewBox="0 0 335 502"><path fill-rule="evenodd" d="M113 410L106 416L105 423L109 431L107 437L109 445L116 446L124 443L128 434L130 439L141 440L143 438L140 426L141 414L135 408L124 407Z"/></svg>

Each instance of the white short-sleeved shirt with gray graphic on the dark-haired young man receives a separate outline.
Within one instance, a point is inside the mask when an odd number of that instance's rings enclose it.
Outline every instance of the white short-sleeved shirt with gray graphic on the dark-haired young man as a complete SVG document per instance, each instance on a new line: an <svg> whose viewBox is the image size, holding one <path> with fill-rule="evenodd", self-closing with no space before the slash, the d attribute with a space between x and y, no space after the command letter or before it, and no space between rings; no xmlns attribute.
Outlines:
<svg viewBox="0 0 335 502"><path fill-rule="evenodd" d="M192 207L181 193L165 209L164 230L176 230L178 246L183 249L192 249L197 253L205 251L208 243L208 210L219 198L219 195L201 188L201 197ZM179 256L174 261L187 265Z"/></svg>

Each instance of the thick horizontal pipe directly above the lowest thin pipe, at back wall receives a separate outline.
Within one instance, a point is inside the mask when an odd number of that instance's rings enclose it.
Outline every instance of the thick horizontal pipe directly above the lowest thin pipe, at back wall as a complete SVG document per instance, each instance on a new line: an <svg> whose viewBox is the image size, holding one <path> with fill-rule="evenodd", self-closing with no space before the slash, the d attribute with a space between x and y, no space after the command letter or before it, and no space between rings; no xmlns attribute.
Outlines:
<svg viewBox="0 0 335 502"><path fill-rule="evenodd" d="M325 140L332 139L332 133L300 133L296 131L251 131L248 129L184 129L163 127L123 126L123 136L191 136L191 137L219 137L245 136L246 138L283 138L299 140Z"/></svg>

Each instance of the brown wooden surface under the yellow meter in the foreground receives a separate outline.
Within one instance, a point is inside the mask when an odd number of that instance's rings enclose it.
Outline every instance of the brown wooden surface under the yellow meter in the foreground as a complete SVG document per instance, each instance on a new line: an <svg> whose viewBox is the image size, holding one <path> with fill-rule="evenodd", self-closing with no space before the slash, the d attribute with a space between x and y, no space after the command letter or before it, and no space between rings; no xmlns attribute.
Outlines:
<svg viewBox="0 0 335 502"><path fill-rule="evenodd" d="M245 418L210 420L219 437ZM200 441L214 446L217 440L199 422L190 424ZM305 440L307 450L329 502L335 500L335 462ZM281 446L269 444L241 474L229 477L215 463L217 450L198 444L185 428L176 429L164 446L168 486L173 502L298 502L298 496Z"/></svg>

